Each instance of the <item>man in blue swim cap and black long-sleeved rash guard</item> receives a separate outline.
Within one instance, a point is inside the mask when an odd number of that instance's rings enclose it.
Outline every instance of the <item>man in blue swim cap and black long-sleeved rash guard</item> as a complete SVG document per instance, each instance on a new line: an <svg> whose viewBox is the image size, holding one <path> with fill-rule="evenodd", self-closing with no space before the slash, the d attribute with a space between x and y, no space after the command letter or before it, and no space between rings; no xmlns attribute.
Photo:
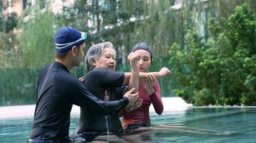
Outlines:
<svg viewBox="0 0 256 143"><path fill-rule="evenodd" d="M70 142L70 111L76 104L98 114L118 112L140 102L129 90L119 100L104 102L88 92L83 83L69 74L83 60L86 34L63 27L55 35L55 62L45 66L37 83L37 104L29 142Z"/></svg>

